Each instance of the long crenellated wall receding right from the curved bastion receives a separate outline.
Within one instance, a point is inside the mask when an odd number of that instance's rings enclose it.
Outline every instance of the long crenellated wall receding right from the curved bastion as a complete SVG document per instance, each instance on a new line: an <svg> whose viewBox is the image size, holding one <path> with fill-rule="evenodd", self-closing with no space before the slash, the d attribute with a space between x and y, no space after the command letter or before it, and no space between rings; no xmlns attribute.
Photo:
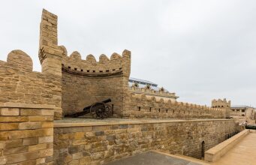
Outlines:
<svg viewBox="0 0 256 165"><path fill-rule="evenodd" d="M131 95L127 118L225 118L226 110L171 101L146 95Z"/></svg>

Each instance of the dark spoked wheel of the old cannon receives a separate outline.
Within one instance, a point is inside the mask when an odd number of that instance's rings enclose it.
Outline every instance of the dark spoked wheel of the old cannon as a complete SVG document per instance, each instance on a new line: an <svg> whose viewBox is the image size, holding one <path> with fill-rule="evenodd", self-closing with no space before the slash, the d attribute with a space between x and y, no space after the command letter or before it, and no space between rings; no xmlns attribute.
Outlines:
<svg viewBox="0 0 256 165"><path fill-rule="evenodd" d="M90 108L90 113L94 118L108 118L112 115L113 110L109 104L105 104L103 102L98 102L92 104Z"/></svg>

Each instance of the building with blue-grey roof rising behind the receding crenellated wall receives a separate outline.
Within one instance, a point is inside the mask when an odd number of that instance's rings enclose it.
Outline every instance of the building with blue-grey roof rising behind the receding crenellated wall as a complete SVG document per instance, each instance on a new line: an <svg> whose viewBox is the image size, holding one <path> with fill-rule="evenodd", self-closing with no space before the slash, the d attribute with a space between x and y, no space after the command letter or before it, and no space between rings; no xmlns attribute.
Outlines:
<svg viewBox="0 0 256 165"><path fill-rule="evenodd" d="M154 96L157 101L161 98L164 99L164 101L176 101L176 99L179 98L175 93L170 93L163 87L159 88L156 83L147 80L130 77L128 84L129 89L134 95L146 95L146 97Z"/></svg>

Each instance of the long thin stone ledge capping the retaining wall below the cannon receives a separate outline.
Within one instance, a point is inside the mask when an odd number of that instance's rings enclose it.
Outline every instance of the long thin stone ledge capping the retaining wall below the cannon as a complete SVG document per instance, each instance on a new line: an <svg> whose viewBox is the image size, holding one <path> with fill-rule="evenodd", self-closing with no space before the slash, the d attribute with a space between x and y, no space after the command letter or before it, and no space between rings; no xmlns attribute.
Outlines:
<svg viewBox="0 0 256 165"><path fill-rule="evenodd" d="M197 121L228 121L233 119L194 119L194 120L136 120L133 121L91 121L91 122L55 122L53 127L89 127L100 125L117 125L117 124L158 124L158 123L173 123L173 122L197 122ZM86 121L86 118L85 118Z"/></svg>

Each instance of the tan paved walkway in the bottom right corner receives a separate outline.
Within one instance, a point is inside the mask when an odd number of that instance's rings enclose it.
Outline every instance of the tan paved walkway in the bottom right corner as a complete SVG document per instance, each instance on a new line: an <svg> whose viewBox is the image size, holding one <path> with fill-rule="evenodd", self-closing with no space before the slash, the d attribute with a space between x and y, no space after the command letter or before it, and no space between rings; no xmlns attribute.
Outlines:
<svg viewBox="0 0 256 165"><path fill-rule="evenodd" d="M248 133L227 154L224 154L214 165L255 165L256 133Z"/></svg>

